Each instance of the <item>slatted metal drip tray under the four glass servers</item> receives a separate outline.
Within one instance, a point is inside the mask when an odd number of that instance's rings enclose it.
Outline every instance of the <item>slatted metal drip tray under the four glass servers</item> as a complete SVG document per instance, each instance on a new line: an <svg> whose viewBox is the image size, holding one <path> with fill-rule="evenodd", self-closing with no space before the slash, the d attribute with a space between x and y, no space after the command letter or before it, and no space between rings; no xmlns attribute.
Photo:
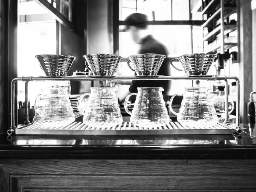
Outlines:
<svg viewBox="0 0 256 192"><path fill-rule="evenodd" d="M233 134L233 128L223 124L205 127L192 127L180 122L170 122L167 125L154 128L138 127L131 122L98 128L85 125L83 122L73 122L63 127L43 127L33 123L15 129L15 134L23 135L179 135L179 134Z"/></svg>

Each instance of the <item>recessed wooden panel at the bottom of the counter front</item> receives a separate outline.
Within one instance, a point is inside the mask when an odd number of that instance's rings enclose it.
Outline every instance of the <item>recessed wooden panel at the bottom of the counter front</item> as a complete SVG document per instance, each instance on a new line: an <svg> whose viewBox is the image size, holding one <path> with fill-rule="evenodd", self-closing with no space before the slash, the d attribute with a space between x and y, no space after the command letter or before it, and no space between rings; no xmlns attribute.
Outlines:
<svg viewBox="0 0 256 192"><path fill-rule="evenodd" d="M246 186L244 185L246 183ZM254 189L256 181L243 175L12 175L11 192L29 189L64 190L222 190Z"/></svg>

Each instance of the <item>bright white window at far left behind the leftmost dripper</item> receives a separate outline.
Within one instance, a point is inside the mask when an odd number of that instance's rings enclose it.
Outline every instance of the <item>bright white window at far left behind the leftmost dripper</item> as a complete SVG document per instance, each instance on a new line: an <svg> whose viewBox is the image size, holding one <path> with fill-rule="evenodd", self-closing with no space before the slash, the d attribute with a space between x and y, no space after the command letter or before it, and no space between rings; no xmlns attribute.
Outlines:
<svg viewBox="0 0 256 192"><path fill-rule="evenodd" d="M17 75L45 76L35 55L56 54L56 21L48 17L47 11L34 1L19 2L18 14L19 18L26 15L27 19L19 22L17 26ZM53 83L54 81L30 82L30 106L34 105L35 97L41 93L41 88L51 87ZM69 84L69 81L66 83ZM24 101L24 84L21 81L17 84L18 101Z"/></svg>

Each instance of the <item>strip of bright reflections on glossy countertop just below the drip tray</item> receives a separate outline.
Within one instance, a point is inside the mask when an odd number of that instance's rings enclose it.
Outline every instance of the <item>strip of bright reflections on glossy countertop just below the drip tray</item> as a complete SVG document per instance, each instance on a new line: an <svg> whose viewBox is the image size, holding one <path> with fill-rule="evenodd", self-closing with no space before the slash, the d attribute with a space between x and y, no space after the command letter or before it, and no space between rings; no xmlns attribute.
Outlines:
<svg viewBox="0 0 256 192"><path fill-rule="evenodd" d="M58 139L59 138L59 139ZM248 140L248 137L246 137ZM232 135L44 136L16 135L13 145L216 145L238 144ZM256 139L250 141L255 143ZM246 144L246 143L244 143Z"/></svg>

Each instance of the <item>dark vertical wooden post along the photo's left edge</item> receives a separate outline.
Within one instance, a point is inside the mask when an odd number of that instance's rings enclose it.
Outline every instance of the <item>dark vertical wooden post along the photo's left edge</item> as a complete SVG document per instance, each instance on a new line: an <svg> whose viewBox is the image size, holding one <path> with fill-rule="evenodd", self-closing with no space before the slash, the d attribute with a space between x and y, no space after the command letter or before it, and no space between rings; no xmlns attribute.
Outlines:
<svg viewBox="0 0 256 192"><path fill-rule="evenodd" d="M0 127L0 132L7 131L10 126L11 116L11 81L17 77L17 0L1 0L1 10L4 10L4 24L0 25L1 30L4 30L4 54L1 62L1 69L3 69L3 76L1 75L1 87L4 86L3 113L4 125ZM3 14L3 13L2 13ZM2 15L3 16L3 15ZM2 18L3 19L3 18ZM2 41L1 41L2 43ZM1 46L3 46L1 44ZM26 58L24 56L24 58ZM2 80L4 81L2 82ZM2 94L1 94L2 95ZM15 116L17 117L17 103L15 104Z"/></svg>

